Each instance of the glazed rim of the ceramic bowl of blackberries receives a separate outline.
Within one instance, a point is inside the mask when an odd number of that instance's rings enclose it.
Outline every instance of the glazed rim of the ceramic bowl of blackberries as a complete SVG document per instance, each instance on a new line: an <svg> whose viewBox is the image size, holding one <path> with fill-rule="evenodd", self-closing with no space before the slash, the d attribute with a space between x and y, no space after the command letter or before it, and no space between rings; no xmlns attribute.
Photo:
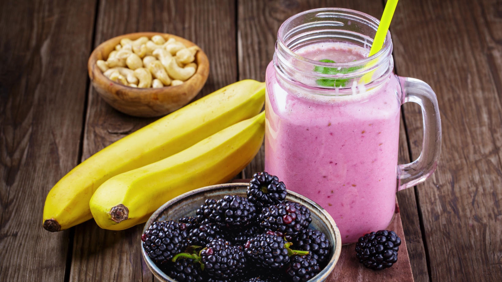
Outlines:
<svg viewBox="0 0 502 282"><path fill-rule="evenodd" d="M181 194L175 198L172 198L171 200L167 201L165 204L163 204L161 207L159 207L151 216L150 218L148 219L148 221L145 223L145 226L143 227L143 232L142 234L145 233L145 231L148 229L148 227L150 227L150 225L152 225L152 223L157 219L157 217L159 217L159 215L170 205L172 205L173 203L187 197L189 194L195 194L195 193L199 193L199 192L203 192L203 191L209 191L209 190L212 190L212 189L216 189L216 188L224 188L224 187L245 187L247 186L248 183L225 183L225 184L216 184L216 185L211 185L211 186L206 186L206 187L202 187L202 188L198 188L198 189L194 189L192 191L189 191L189 192L186 192L184 194ZM315 281L324 281L325 279L327 279L327 277L329 276L329 274L333 271L337 261L338 261L338 258L340 257L340 253L341 253L341 246L342 246L342 243L341 243L341 235L340 235L340 231L338 229L338 226L336 225L335 221L333 220L333 218L331 217L331 215L324 209L322 208L319 204L317 204L316 202L314 202L313 200L301 195L301 194L298 194L296 192L293 192L293 191L290 191L288 190L288 194L292 194L296 197L299 197L299 198L303 198L305 201L307 201L309 204L313 205L319 212L321 212L322 214L324 214L326 216L326 218L328 219L328 222L330 223L332 229L334 230L334 237L335 237L335 251L333 253L333 255L331 256L331 259L328 261L328 263L326 264L326 266L324 267L323 270L321 270L321 272L317 273L314 277L312 277L309 281L315 279ZM331 230L330 226L328 226L328 229ZM162 270L160 270L160 268L150 259L150 257L148 256L147 252L145 251L145 249L143 248L143 241L140 241L140 244L141 244L141 254L143 256L143 259L145 260L145 263L147 264L148 268L150 269L150 271L152 271L152 273L154 274L154 276L156 276L157 278L161 278L164 279L165 281L169 281L169 282L177 282L176 280L172 279L171 277L169 277L165 272L163 272Z"/></svg>

